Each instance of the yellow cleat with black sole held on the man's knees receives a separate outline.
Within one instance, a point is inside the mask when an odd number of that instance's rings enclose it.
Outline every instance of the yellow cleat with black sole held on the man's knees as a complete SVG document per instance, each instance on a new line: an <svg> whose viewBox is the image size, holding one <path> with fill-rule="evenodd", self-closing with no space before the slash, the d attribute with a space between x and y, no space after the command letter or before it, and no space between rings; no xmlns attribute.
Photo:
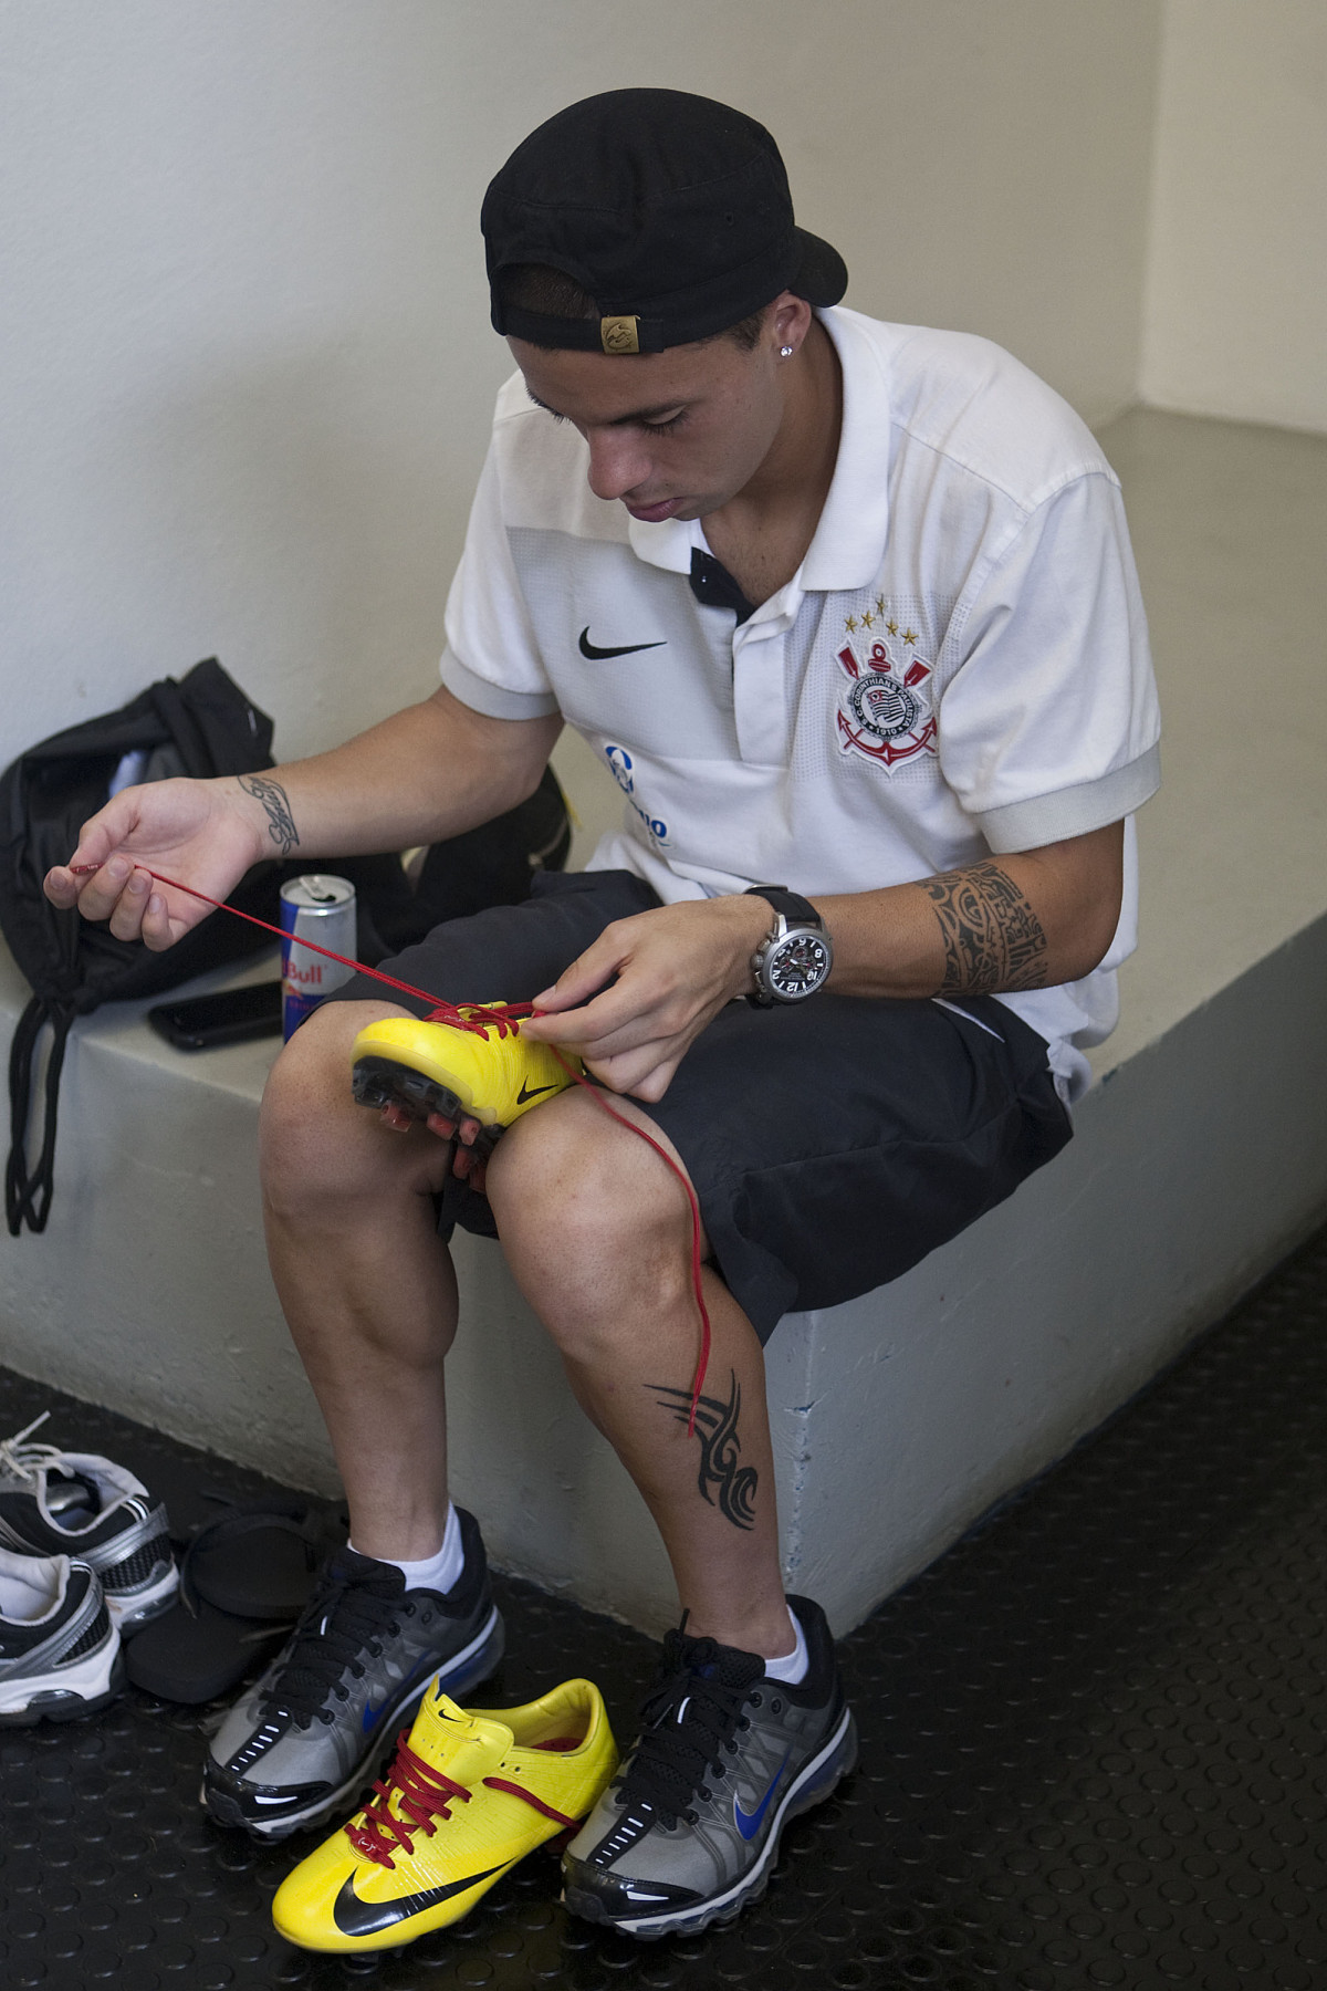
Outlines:
<svg viewBox="0 0 1327 1991"><path fill-rule="evenodd" d="M475 1003L475 1009L495 1007ZM567 1053L563 1053L567 1055ZM583 1071L579 1057L567 1057ZM521 1113L575 1085L549 1043L493 1023L481 1035L450 1023L384 1017L354 1039L350 1083L366 1107L404 1107L412 1119L470 1115L491 1131L485 1147Z"/></svg>

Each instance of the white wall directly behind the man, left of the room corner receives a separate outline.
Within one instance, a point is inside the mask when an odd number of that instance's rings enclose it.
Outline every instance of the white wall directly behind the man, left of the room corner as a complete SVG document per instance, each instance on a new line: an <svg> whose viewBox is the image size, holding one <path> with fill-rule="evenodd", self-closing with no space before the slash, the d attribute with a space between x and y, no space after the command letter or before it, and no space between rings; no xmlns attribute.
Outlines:
<svg viewBox="0 0 1327 1991"><path fill-rule="evenodd" d="M0 0L0 765L217 651L286 757L434 683L477 207L593 90L780 137L850 303L1134 394L1158 0Z"/></svg>

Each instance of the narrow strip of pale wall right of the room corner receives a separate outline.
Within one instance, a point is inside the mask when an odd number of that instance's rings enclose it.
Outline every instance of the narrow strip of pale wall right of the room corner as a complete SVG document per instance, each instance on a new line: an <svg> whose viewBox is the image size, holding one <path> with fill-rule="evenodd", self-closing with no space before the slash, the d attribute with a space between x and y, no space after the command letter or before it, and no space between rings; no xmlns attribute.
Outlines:
<svg viewBox="0 0 1327 1991"><path fill-rule="evenodd" d="M1327 8L1166 0L1142 398L1327 430Z"/></svg>

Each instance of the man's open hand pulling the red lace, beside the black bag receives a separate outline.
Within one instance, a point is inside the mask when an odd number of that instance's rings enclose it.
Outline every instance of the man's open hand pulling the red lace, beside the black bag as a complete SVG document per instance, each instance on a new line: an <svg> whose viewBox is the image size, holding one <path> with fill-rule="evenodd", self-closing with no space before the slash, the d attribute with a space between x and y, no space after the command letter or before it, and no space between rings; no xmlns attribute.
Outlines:
<svg viewBox="0 0 1327 1991"><path fill-rule="evenodd" d="M231 776L121 788L84 824L78 850L46 874L44 890L54 906L109 920L117 940L143 940L159 954L207 918L209 908L153 884L149 872L221 900L267 854L265 820L261 804ZM86 864L97 870L82 874L78 868Z"/></svg>

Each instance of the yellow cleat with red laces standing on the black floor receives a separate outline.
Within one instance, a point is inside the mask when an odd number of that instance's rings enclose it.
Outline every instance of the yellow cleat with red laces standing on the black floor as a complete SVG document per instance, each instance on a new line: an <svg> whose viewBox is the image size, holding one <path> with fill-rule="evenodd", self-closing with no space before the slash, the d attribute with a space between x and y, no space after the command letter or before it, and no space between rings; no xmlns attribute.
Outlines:
<svg viewBox="0 0 1327 1991"><path fill-rule="evenodd" d="M615 1770L591 1680L491 1712L432 1686L372 1804L286 1876L273 1921L302 1949L336 1951L444 1929L535 1846L577 1830Z"/></svg>

